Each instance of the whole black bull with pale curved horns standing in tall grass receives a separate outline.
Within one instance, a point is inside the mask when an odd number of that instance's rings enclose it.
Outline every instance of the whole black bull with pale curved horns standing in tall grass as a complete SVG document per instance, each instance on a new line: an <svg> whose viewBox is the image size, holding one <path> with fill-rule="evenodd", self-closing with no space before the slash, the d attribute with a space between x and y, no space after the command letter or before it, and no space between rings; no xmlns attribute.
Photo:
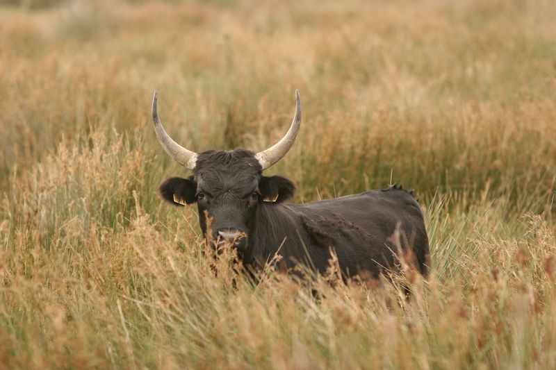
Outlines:
<svg viewBox="0 0 556 370"><path fill-rule="evenodd" d="M156 129L156 94L153 115ZM207 243L231 244L245 266L262 267L279 253L285 269L302 263L323 273L334 251L343 276L377 277L397 270L404 253L412 255L410 262L427 275L429 243L423 214L414 196L401 187L302 205L285 203L295 185L281 176L263 176L265 162L259 154L234 149L193 155L193 176L165 180L161 195L174 205L197 203ZM189 159L177 158L182 164Z"/></svg>

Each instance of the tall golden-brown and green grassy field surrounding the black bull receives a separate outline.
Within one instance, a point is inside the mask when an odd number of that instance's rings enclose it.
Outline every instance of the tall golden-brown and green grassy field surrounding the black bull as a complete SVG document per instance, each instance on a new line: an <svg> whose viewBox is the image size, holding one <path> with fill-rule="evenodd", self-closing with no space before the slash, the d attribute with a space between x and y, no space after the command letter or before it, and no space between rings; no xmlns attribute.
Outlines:
<svg viewBox="0 0 556 370"><path fill-rule="evenodd" d="M0 1L0 368L555 369L556 2ZM156 141L403 183L432 274L218 277ZM411 272L411 271L409 271ZM233 284L235 281L235 287ZM322 298L313 297L320 292Z"/></svg>

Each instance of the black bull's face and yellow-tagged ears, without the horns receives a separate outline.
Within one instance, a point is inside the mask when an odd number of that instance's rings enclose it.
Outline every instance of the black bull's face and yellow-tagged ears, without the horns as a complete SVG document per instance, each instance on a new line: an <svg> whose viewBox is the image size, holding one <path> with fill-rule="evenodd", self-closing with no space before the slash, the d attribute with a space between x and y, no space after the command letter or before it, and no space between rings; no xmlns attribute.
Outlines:
<svg viewBox="0 0 556 370"><path fill-rule="evenodd" d="M295 185L281 176L262 176L255 153L245 149L199 153L195 175L172 177L159 190L174 205L197 203L199 224L208 245L231 244L247 252L259 206L293 196Z"/></svg>

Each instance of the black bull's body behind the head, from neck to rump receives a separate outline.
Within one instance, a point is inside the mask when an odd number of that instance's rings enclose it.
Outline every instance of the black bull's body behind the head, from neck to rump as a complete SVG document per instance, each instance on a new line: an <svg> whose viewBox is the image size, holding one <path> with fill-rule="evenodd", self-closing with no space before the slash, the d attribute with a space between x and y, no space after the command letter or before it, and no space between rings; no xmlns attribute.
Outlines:
<svg viewBox="0 0 556 370"><path fill-rule="evenodd" d="M414 196L397 187L304 205L263 204L251 235L241 255L251 266L260 267L279 253L288 269L301 262L323 273L332 250L344 276L367 272L377 277L397 269L401 247L412 249L418 270L427 274L423 215Z"/></svg>

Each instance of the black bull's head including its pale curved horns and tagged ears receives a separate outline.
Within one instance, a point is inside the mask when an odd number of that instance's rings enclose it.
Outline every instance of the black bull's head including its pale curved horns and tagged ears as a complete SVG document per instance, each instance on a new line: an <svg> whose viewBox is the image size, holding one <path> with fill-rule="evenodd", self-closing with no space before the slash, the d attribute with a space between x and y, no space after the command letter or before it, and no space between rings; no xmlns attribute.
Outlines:
<svg viewBox="0 0 556 370"><path fill-rule="evenodd" d="M165 201L174 205L197 202L199 224L211 246L229 243L245 253L249 236L255 232L256 213L293 196L295 185L281 176L263 176L263 171L278 162L293 146L301 126L300 93L293 122L284 137L265 151L254 153L237 148L232 151L208 150L195 153L174 142L160 119L154 92L152 117L154 131L163 149L180 165L193 171L188 178L165 180L159 191ZM267 203L270 201L270 203ZM207 235L207 217L211 233Z"/></svg>

